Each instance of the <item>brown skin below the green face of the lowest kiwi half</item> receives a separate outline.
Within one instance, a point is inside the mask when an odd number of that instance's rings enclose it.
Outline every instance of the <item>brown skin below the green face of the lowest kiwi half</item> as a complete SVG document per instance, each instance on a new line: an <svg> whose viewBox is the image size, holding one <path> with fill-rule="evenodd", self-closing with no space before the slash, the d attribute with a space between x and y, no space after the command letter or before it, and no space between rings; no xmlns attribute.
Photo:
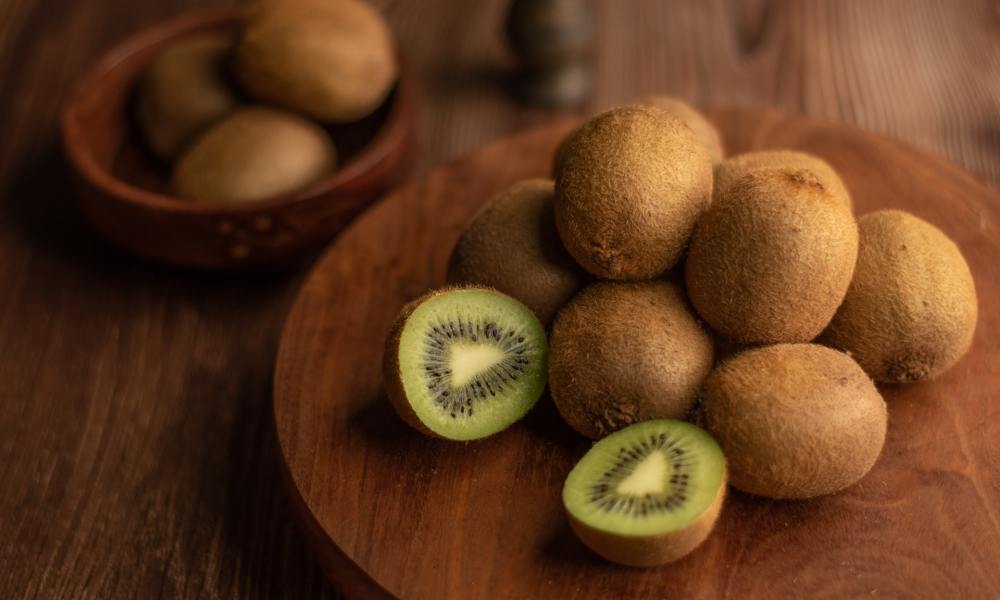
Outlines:
<svg viewBox="0 0 1000 600"><path fill-rule="evenodd" d="M705 512L684 529L648 537L625 537L590 527L566 511L570 526L588 548L604 558L630 567L655 567L684 558L708 538L726 498L726 478Z"/></svg>

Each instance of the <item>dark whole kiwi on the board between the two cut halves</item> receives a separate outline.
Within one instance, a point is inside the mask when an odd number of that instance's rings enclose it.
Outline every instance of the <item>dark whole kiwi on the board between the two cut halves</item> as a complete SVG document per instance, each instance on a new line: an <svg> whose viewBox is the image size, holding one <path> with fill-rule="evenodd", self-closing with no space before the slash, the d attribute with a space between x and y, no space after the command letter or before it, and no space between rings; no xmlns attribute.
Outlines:
<svg viewBox="0 0 1000 600"><path fill-rule="evenodd" d="M686 416L712 359L711 337L673 284L599 281L556 316L549 389L566 422L598 439Z"/></svg>

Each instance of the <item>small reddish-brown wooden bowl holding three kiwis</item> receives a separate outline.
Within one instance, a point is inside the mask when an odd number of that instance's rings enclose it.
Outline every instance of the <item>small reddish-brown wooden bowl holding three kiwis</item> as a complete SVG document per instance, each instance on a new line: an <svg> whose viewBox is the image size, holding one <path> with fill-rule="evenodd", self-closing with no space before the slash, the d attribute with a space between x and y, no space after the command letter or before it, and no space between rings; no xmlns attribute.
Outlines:
<svg viewBox="0 0 1000 600"><path fill-rule="evenodd" d="M201 10L134 35L97 62L63 111L80 208L129 252L202 268L287 264L333 237L409 167L413 106L404 71L373 115L328 128L342 164L308 189L238 206L170 196L169 165L153 157L134 126L134 83L164 46L232 29L239 17L238 9Z"/></svg>

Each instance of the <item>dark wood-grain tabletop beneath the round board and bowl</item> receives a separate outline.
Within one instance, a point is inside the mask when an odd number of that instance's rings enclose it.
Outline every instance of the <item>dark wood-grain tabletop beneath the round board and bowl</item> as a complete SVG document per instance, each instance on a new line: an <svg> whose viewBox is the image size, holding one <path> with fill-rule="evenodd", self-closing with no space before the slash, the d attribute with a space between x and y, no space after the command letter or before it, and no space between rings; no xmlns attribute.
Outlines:
<svg viewBox="0 0 1000 600"><path fill-rule="evenodd" d="M194 0L0 2L0 597L336 597L278 479L271 373L306 266L161 268L73 207L57 116L87 65ZM560 113L505 93L503 1L379 2L417 172ZM855 124L1000 183L1000 5L597 2L585 111L667 92Z"/></svg>

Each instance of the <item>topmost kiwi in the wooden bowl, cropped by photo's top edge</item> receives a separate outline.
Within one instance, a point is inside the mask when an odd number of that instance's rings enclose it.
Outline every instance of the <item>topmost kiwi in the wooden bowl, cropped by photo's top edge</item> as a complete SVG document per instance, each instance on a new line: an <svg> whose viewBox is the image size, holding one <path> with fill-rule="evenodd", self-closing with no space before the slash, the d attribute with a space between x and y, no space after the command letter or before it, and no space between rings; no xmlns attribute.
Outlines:
<svg viewBox="0 0 1000 600"><path fill-rule="evenodd" d="M251 96L328 123L374 112L399 74L392 32L359 0L259 0L235 67Z"/></svg>

